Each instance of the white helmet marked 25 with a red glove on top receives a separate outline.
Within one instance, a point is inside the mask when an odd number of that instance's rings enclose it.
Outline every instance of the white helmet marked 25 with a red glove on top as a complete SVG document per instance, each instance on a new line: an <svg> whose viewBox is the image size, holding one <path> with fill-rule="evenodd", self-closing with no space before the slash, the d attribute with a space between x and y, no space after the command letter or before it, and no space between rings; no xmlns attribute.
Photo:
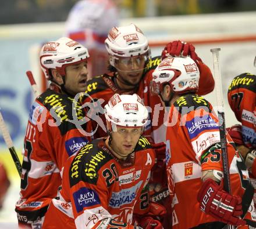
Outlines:
<svg viewBox="0 0 256 229"><path fill-rule="evenodd" d="M177 94L198 90L200 72L190 57L168 57L161 61L152 75L153 94L161 93L166 84Z"/></svg>

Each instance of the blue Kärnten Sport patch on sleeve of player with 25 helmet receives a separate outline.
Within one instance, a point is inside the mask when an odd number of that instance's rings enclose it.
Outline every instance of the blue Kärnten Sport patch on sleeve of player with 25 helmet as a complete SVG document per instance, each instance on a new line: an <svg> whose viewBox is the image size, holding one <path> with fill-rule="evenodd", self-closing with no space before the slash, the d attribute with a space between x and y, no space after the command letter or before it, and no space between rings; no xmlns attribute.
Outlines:
<svg viewBox="0 0 256 229"><path fill-rule="evenodd" d="M190 139L197 137L204 130L219 130L218 123L209 115L195 117L191 121L187 121L185 125L189 131Z"/></svg>

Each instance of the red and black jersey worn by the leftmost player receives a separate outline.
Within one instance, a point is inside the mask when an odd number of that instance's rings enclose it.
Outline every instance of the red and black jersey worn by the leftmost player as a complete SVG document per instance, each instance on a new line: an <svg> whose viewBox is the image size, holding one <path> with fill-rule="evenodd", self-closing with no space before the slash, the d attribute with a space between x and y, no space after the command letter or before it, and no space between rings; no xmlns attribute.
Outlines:
<svg viewBox="0 0 256 229"><path fill-rule="evenodd" d="M45 215L51 199L61 186L63 165L83 147L90 136L80 104L67 94L47 89L33 103L24 138L18 220L32 223Z"/></svg>

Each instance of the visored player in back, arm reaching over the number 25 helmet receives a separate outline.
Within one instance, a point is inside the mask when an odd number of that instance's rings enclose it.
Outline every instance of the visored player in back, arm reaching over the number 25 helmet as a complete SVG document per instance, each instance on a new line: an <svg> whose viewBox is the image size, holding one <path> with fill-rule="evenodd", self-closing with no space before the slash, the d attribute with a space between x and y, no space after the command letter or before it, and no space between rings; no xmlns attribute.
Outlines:
<svg viewBox="0 0 256 229"><path fill-rule="evenodd" d="M157 165L154 166L150 183L154 186L161 184L162 188L154 192L151 199L164 203L168 197L168 187L165 173L165 131L163 125L165 111L161 106L158 96L150 93L150 83L152 81L152 71L161 61L161 56L151 59L150 47L143 32L135 26L113 27L105 41L106 49L109 53L109 64L111 73L104 74L88 81L86 93L90 95L85 101L103 101L102 106L115 93L133 94L137 93L143 99L145 106L151 108L151 122L145 128L145 137L151 141L152 147L157 155ZM162 52L162 59L172 56L191 56L201 70L200 94L207 94L214 89L214 79L209 68L202 63L195 53L195 48L190 43L173 41L166 45ZM99 102L99 101L98 101ZM95 106L96 107L96 106ZM96 112L96 111L95 111ZM104 116L101 116L104 120ZM106 130L101 128L99 122L93 121L93 129L97 129L95 137L106 135ZM170 217L166 217L166 220ZM166 223L169 226L169 223ZM167 227L168 228L168 227Z"/></svg>

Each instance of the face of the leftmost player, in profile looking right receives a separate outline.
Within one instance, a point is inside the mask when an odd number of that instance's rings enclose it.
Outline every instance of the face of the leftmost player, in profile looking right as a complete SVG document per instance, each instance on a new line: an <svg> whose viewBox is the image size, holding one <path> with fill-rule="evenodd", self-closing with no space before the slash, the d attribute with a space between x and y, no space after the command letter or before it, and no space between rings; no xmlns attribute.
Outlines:
<svg viewBox="0 0 256 229"><path fill-rule="evenodd" d="M76 95L86 91L87 61L66 67L65 88L70 94Z"/></svg>

